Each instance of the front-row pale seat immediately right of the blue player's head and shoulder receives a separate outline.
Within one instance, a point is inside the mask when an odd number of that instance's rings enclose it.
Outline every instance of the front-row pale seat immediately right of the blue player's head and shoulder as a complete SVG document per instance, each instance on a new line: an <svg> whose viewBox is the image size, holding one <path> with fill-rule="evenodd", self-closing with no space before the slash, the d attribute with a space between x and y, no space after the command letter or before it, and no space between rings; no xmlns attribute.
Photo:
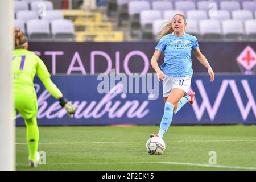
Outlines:
<svg viewBox="0 0 256 182"><path fill-rule="evenodd" d="M201 38L203 39L221 39L221 24L218 20L201 20L199 22Z"/></svg>

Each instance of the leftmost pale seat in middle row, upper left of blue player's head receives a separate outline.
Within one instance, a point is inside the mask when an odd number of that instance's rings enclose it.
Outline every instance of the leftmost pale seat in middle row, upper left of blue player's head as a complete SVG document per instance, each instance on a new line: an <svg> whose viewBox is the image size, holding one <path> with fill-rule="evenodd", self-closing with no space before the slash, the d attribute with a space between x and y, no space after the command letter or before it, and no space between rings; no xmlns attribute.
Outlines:
<svg viewBox="0 0 256 182"><path fill-rule="evenodd" d="M161 19L162 14L159 10L143 10L139 15L139 22L142 27L144 27L148 23L152 23L156 19Z"/></svg>

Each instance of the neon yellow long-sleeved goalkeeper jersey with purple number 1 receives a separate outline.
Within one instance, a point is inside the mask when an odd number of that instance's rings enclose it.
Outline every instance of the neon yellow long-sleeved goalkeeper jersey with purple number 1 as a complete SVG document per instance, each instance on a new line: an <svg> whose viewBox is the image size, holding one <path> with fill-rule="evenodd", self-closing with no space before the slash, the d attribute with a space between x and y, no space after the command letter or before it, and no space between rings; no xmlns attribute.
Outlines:
<svg viewBox="0 0 256 182"><path fill-rule="evenodd" d="M36 97L33 81L35 75L38 75L53 97L62 96L60 90L51 81L51 75L46 65L34 52L26 49L15 49L13 51L12 71L14 94L26 93Z"/></svg>

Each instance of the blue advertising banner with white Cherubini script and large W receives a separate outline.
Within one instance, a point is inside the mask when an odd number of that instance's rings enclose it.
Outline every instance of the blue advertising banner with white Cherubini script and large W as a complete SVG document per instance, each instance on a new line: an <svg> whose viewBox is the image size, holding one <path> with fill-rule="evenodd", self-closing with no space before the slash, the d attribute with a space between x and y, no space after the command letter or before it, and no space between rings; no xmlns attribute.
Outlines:
<svg viewBox="0 0 256 182"><path fill-rule="evenodd" d="M143 93L130 93L134 88L128 88L129 93L118 93L123 88L122 82L104 87L109 93L99 93L102 79L97 79L97 75L52 76L52 80L77 111L74 118L69 118L35 78L39 125L159 125L163 116L162 82L159 82L159 92L154 90L154 93L148 89ZM256 124L255 83L256 76L217 75L214 82L209 81L208 75L193 76L191 89L196 92L195 102L186 104L175 114L172 125ZM135 85L138 84L134 82ZM155 82L154 88L157 87ZM19 115L16 125L24 125Z"/></svg>

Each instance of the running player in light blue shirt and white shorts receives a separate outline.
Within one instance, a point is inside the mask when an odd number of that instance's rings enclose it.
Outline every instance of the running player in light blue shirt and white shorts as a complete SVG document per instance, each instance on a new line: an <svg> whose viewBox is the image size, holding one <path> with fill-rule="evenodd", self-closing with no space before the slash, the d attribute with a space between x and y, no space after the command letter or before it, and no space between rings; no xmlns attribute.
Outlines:
<svg viewBox="0 0 256 182"><path fill-rule="evenodd" d="M186 26L185 16L176 14L172 22L167 23L156 38L159 43L155 47L151 65L158 73L159 80L163 80L165 105L159 133L150 134L150 137L163 138L164 133L171 125L173 115L187 102L193 104L195 92L188 92L193 75L191 50L197 60L208 69L210 81L214 81L212 68L200 52L196 37L185 33ZM164 63L160 69L157 61L161 52L164 52Z"/></svg>

